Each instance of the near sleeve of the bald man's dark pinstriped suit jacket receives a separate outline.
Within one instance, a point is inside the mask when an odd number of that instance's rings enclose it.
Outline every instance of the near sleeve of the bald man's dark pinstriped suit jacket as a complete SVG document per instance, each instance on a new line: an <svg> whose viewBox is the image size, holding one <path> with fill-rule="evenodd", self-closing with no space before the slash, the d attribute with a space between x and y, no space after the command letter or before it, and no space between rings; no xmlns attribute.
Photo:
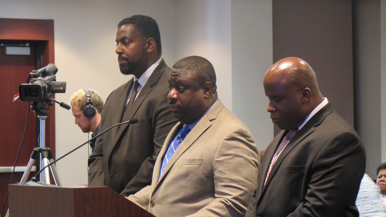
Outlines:
<svg viewBox="0 0 386 217"><path fill-rule="evenodd" d="M353 132L333 136L313 162L304 202L288 216L339 216L356 199L365 163L363 146Z"/></svg>

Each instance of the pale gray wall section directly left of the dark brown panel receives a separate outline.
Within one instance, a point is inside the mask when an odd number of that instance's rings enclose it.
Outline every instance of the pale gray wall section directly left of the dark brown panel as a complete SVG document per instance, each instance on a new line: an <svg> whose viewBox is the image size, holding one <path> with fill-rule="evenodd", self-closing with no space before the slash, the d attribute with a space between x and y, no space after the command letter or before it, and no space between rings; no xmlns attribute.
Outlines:
<svg viewBox="0 0 386 217"><path fill-rule="evenodd" d="M251 130L259 150L273 139L263 78L273 64L272 0L232 1L233 113Z"/></svg>

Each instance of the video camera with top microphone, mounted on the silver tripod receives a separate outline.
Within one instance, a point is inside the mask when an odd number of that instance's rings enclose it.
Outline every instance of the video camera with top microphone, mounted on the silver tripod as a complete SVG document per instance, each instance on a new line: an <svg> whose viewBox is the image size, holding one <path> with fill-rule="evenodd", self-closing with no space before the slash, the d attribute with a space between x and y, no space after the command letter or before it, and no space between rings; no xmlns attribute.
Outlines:
<svg viewBox="0 0 386 217"><path fill-rule="evenodd" d="M66 82L56 81L56 72L58 68L52 63L30 72L28 77L33 78L30 83L19 86L20 100L44 102L55 93L65 93Z"/></svg>

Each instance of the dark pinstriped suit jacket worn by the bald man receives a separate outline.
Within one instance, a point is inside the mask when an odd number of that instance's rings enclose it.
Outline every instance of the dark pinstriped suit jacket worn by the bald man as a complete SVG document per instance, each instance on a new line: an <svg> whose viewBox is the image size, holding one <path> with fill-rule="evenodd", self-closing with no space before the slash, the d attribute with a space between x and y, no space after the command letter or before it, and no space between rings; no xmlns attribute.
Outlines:
<svg viewBox="0 0 386 217"><path fill-rule="evenodd" d="M287 144L264 186L287 132L279 133L266 149L247 216L358 216L355 200L366 154L354 129L328 103Z"/></svg>

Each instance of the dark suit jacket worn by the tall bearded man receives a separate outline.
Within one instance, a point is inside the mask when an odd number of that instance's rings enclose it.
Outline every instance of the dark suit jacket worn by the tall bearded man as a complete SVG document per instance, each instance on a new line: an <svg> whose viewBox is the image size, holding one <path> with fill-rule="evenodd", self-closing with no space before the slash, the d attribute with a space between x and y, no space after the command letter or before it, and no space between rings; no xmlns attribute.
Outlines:
<svg viewBox="0 0 386 217"><path fill-rule="evenodd" d="M167 99L170 71L162 60L122 119L136 118L137 123L113 127L97 139L88 159L88 186L108 186L129 196L151 184L158 153L177 123ZM100 132L121 122L132 85L130 80L110 93L103 107Z"/></svg>

